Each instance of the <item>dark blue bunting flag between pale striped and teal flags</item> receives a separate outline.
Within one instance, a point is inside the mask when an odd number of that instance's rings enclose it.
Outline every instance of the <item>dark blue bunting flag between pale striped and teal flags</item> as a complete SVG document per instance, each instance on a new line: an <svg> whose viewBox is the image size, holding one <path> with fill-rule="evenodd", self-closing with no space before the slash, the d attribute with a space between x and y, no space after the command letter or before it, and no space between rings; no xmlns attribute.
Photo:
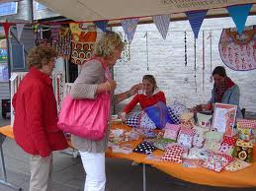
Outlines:
<svg viewBox="0 0 256 191"><path fill-rule="evenodd" d="M192 31L194 32L196 38L198 38L199 36L200 28L203 24L204 19L206 18L207 13L208 10L186 12L186 16L189 19Z"/></svg>

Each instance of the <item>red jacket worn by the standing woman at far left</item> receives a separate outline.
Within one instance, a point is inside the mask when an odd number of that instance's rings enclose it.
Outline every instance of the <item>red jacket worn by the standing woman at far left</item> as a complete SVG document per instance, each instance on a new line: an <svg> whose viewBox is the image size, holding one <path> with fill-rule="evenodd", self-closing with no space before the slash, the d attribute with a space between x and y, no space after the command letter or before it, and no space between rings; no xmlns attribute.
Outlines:
<svg viewBox="0 0 256 191"><path fill-rule="evenodd" d="M51 82L47 75L33 67L13 97L15 141L26 153L43 158L68 147L62 131L57 128Z"/></svg>

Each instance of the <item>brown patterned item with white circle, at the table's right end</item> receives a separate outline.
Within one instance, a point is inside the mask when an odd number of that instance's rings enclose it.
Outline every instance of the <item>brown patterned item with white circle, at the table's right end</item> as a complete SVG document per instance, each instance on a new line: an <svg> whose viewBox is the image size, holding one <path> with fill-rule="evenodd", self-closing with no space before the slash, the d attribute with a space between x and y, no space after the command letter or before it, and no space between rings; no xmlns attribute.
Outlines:
<svg viewBox="0 0 256 191"><path fill-rule="evenodd" d="M246 162L253 162L253 144L238 139L236 141L232 157Z"/></svg>

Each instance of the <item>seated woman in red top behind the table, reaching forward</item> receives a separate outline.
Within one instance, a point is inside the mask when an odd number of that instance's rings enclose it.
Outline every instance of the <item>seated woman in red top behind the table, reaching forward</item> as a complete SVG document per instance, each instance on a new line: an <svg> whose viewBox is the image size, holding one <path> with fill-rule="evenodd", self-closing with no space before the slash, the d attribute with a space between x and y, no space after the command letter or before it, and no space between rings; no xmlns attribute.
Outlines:
<svg viewBox="0 0 256 191"><path fill-rule="evenodd" d="M152 106L158 101L166 103L164 93L159 91L153 75L144 75L142 78L142 86L143 94L137 94L131 99L122 113L123 117L127 115L137 103L140 104L141 109Z"/></svg>

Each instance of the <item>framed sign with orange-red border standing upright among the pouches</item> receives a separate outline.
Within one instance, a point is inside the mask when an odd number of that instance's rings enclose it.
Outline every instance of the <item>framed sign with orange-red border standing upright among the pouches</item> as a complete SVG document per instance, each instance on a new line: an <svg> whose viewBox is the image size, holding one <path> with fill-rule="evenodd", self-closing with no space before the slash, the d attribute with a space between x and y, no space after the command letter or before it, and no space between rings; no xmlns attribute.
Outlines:
<svg viewBox="0 0 256 191"><path fill-rule="evenodd" d="M212 130L233 136L237 105L214 103Z"/></svg>

